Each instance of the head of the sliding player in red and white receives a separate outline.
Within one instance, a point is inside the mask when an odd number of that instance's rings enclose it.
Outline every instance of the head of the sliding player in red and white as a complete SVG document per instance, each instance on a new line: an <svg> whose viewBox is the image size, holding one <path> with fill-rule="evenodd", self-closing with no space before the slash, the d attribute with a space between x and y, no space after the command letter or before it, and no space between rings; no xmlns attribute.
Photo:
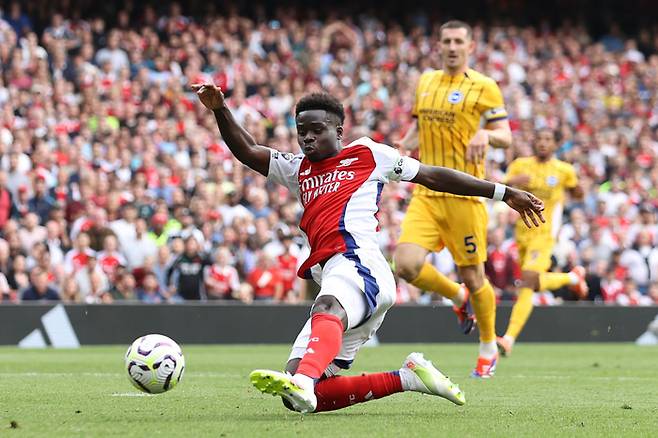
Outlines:
<svg viewBox="0 0 658 438"><path fill-rule="evenodd" d="M297 142L310 161L320 161L340 152L345 110L335 97L313 93L295 107Z"/></svg>

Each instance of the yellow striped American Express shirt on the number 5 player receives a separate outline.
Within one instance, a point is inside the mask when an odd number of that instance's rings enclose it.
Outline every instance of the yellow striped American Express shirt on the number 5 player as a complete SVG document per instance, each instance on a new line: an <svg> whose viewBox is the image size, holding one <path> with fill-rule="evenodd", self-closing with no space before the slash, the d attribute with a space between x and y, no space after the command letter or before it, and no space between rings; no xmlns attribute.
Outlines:
<svg viewBox="0 0 658 438"><path fill-rule="evenodd" d="M466 146L483 124L504 120L507 111L496 82L475 70L455 76L425 72L416 87L412 114L418 119L421 162L484 178L485 162L466 161ZM414 194L454 196L418 185Z"/></svg>

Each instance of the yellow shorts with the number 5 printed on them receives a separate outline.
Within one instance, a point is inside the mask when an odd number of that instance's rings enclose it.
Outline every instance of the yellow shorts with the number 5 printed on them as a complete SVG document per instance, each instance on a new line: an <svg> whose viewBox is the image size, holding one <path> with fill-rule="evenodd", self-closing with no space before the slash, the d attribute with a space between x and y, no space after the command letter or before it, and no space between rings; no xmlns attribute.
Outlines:
<svg viewBox="0 0 658 438"><path fill-rule="evenodd" d="M428 251L447 247L457 266L478 265L487 260L488 219L486 206L475 199L414 195L398 243Z"/></svg>

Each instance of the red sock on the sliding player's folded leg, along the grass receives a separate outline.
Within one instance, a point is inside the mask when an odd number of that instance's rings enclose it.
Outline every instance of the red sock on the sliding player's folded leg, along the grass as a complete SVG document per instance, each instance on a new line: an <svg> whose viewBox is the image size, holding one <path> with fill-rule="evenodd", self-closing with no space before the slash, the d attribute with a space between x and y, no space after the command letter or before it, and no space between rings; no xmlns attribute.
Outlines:
<svg viewBox="0 0 658 438"><path fill-rule="evenodd" d="M335 411L396 392L402 392L402 381L397 371L329 377L315 385L315 395L318 398L315 412Z"/></svg>

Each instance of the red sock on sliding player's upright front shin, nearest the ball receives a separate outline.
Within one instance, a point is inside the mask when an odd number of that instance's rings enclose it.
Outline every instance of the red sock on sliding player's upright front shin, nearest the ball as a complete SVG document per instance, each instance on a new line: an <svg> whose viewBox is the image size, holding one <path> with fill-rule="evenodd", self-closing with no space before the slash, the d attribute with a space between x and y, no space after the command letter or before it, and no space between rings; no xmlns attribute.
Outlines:
<svg viewBox="0 0 658 438"><path fill-rule="evenodd" d="M311 337L297 373L319 379L340 351L342 342L343 323L340 318L330 313L314 313L311 317Z"/></svg>

